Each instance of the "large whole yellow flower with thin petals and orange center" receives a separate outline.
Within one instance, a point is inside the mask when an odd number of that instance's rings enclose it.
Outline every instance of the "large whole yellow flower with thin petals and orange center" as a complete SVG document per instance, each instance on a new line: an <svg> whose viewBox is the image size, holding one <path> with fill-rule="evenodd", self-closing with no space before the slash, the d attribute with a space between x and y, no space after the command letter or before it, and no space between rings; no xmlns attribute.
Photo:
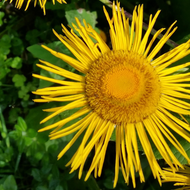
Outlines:
<svg viewBox="0 0 190 190"><path fill-rule="evenodd" d="M119 11L117 11L119 10ZM120 11L120 3L113 3L113 18L110 18L105 7L104 13L110 26L112 48L104 42L100 35L83 21L84 26L76 18L74 31L63 27L65 36L55 35L73 53L76 59L42 46L54 56L70 64L79 74L69 72L46 61L38 66L46 71L64 76L69 80L57 80L34 74L42 80L51 81L59 86L47 87L34 92L41 95L35 102L66 102L67 105L47 109L53 112L41 121L44 123L65 110L80 108L79 111L39 130L54 129L50 139L58 139L77 132L73 139L58 155L60 159L73 145L76 139L85 132L83 140L67 165L71 172L79 168L79 178L82 175L85 161L93 148L94 157L85 180L94 170L95 177L100 176L108 142L116 131L116 158L114 187L118 181L119 167L126 183L129 176L135 187L135 172L139 173L140 181L145 181L140 156L138 139L144 149L153 176L161 184L162 170L154 156L149 138L157 147L166 163L172 169L183 167L172 153L169 141L190 162L185 150L172 134L175 133L190 141L189 124L176 117L190 114L190 73L176 74L179 69L187 67L190 62L172 66L179 59L190 53L189 41L173 50L156 57L162 46L175 32L173 25L153 47L158 35L164 30L158 30L151 38L150 32L160 13L150 16L148 29L142 34L143 6L134 9L131 24L125 18L124 10ZM130 29L131 27L131 29ZM92 38L96 42L92 41ZM170 66L170 67L168 67ZM80 74L81 73L81 74ZM69 127L64 125L78 117L81 120ZM167 141L166 141L167 140ZM173 166L174 163L174 166Z"/></svg>

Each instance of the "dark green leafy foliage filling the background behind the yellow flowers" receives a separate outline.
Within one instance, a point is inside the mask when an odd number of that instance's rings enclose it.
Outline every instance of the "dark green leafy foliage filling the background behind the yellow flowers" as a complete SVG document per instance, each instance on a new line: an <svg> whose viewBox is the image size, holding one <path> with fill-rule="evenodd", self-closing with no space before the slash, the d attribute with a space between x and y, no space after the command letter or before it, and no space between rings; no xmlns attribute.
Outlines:
<svg viewBox="0 0 190 190"><path fill-rule="evenodd" d="M4 1L0 2L0 190L113 189L115 133L112 135L108 146L102 176L95 179L91 175L84 182L85 173L89 168L88 163L91 161L93 154L89 156L87 166L84 167L84 173L80 180L78 179L77 171L69 174L70 168L65 167L65 164L78 148L82 137L58 161L58 153L71 140L74 134L59 140L50 141L48 138L49 132L37 132L39 129L66 118L77 111L77 109L66 110L45 124L40 125L40 121L49 114L42 112L42 109L64 104L56 102L36 104L32 101L32 99L37 98L37 96L31 93L32 91L52 85L50 82L33 78L32 73L64 80L64 77L39 69L36 66L36 63L39 63L39 59L71 72L77 72L67 63L41 47L41 44L44 44L55 51L75 58L58 41L52 33L52 28L58 33L62 33L60 24L63 23L66 27L69 25L73 28L72 23L76 25L75 17L77 17L81 24L83 24L83 19L85 19L97 32L100 31L100 28L106 31L106 34L109 33L102 6L103 3L109 5L110 1L67 0L67 2L67 5L60 5L57 2L53 5L51 1L47 2L46 16L43 15L39 6L36 8L31 6L24 12L22 9L17 10L13 8L13 6L4 3ZM146 24L148 23L148 14L155 13L157 9L162 9L155 29L160 27L167 28L174 20L178 19L180 32L176 32L172 39L180 44L190 38L188 0L184 0L184 2L179 0L159 0L155 1L154 5L150 0L121 0L121 5L125 7L128 13L132 13L137 3L144 4L144 21ZM111 12L110 8L106 8L108 12ZM70 30L69 27L67 28ZM109 44L108 41L107 43ZM164 46L163 52L169 49L169 46ZM175 64L189 61L190 57L187 56ZM66 126L79 119L81 118L68 123ZM188 118L187 120L189 121ZM190 156L189 143L180 137L177 138ZM171 144L169 146L177 159L182 164L185 164L186 160ZM153 143L152 147L159 164L165 167L166 164ZM136 189L158 190L174 188L173 184L164 184L160 187L157 180L154 180L140 143L139 153L146 182L141 184L139 176L136 174ZM118 184L115 189L127 190L132 188L131 181L129 186L125 184L120 171Z"/></svg>

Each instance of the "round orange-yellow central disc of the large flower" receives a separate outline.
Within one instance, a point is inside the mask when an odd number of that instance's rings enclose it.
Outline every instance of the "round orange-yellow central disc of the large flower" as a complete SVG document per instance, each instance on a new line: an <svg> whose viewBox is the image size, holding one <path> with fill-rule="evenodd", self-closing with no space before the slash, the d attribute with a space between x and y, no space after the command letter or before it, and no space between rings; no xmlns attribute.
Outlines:
<svg viewBox="0 0 190 190"><path fill-rule="evenodd" d="M89 105L115 124L142 121L156 111L160 81L152 65L128 51L110 51L94 61L86 75Z"/></svg>

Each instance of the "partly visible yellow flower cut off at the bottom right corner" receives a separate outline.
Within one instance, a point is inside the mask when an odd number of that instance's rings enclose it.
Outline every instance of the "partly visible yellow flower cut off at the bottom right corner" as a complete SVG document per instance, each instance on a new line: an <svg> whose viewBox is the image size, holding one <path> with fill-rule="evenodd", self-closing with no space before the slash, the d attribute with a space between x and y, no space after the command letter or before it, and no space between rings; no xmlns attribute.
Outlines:
<svg viewBox="0 0 190 190"><path fill-rule="evenodd" d="M177 190L190 189L190 166L184 166L184 169L180 168L177 172L166 168L163 173L163 182L175 182L174 186L183 186Z"/></svg>

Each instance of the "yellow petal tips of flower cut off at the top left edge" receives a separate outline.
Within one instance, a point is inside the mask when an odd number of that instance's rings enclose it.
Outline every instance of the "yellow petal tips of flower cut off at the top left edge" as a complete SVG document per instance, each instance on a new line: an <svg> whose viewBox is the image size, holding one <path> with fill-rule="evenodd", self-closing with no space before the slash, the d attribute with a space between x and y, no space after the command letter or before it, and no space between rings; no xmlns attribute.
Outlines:
<svg viewBox="0 0 190 190"><path fill-rule="evenodd" d="M10 3L12 3L12 1L13 0L10 0ZM37 4L38 1L40 3L40 7L43 9L44 14L45 14L46 13L46 11L45 11L45 4L46 4L47 0L35 0L34 1L34 6L36 6L36 4ZM55 4L55 0L52 0L52 1L53 1L53 4ZM56 0L56 1L59 2L60 4L66 3L65 0ZM16 0L15 7L18 8L18 9L21 9L21 7L22 7L22 5L23 5L24 2L27 2L26 7L25 7L25 11L26 11L28 9L28 6L29 6L31 0Z"/></svg>

